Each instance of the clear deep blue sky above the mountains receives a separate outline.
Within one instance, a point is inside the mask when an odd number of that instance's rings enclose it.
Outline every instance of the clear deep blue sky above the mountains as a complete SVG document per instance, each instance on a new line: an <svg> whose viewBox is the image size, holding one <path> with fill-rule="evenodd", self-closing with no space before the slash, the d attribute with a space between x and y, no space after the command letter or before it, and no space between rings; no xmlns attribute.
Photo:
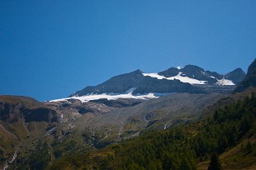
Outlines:
<svg viewBox="0 0 256 170"><path fill-rule="evenodd" d="M0 94L67 97L138 68L247 72L255 57L255 0L0 0Z"/></svg>

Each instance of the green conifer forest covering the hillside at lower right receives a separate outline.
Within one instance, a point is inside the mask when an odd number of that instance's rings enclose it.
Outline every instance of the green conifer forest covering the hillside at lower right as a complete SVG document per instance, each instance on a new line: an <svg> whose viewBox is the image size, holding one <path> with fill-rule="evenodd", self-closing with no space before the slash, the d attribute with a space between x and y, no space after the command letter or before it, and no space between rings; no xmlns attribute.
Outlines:
<svg viewBox="0 0 256 170"><path fill-rule="evenodd" d="M103 150L60 158L49 169L197 169L256 133L256 95L218 108L213 117L187 126L151 133ZM248 143L246 152L255 144ZM76 159L74 159L76 158ZM216 159L216 158L215 158Z"/></svg>

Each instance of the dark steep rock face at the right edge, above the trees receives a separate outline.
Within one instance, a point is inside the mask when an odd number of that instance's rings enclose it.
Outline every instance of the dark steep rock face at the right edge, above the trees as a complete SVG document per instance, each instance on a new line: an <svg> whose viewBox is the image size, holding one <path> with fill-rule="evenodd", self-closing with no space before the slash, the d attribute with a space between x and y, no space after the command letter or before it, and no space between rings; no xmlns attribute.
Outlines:
<svg viewBox="0 0 256 170"><path fill-rule="evenodd" d="M243 92L248 87L256 87L256 59L248 67L244 80L238 85L234 92Z"/></svg>

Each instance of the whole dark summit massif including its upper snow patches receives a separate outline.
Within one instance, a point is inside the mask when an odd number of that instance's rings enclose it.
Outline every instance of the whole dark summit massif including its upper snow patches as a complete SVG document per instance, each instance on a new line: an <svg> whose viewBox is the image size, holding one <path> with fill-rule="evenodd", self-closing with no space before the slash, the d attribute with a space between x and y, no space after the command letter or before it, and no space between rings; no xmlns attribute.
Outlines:
<svg viewBox="0 0 256 170"><path fill-rule="evenodd" d="M144 73L141 70L111 77L97 86L88 86L74 92L69 97L81 97L92 94L123 94L132 95L147 93L206 93L228 92L243 80L245 73L241 68L225 75L217 72L205 71L201 67L187 65L185 67L171 67L158 73ZM211 88L208 90L207 88Z"/></svg>

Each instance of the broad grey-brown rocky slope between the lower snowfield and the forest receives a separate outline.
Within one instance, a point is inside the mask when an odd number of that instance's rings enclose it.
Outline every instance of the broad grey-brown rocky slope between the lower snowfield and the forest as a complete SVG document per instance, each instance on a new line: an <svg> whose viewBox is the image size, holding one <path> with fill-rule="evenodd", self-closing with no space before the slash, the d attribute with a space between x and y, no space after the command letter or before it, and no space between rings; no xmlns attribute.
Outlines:
<svg viewBox="0 0 256 170"><path fill-rule="evenodd" d="M64 119L66 112L76 111L82 115L70 118L70 122L57 127L57 131L63 133L54 134L54 138L65 140L69 138L65 136L68 133L72 135L70 140L82 141L80 148L84 145L85 148L103 148L125 138L135 138L146 131L192 122L214 102L226 96L220 93L175 93L151 100L101 99L80 102L69 99L46 104L56 106L54 109L63 112ZM63 143L59 143L59 146L63 146Z"/></svg>

